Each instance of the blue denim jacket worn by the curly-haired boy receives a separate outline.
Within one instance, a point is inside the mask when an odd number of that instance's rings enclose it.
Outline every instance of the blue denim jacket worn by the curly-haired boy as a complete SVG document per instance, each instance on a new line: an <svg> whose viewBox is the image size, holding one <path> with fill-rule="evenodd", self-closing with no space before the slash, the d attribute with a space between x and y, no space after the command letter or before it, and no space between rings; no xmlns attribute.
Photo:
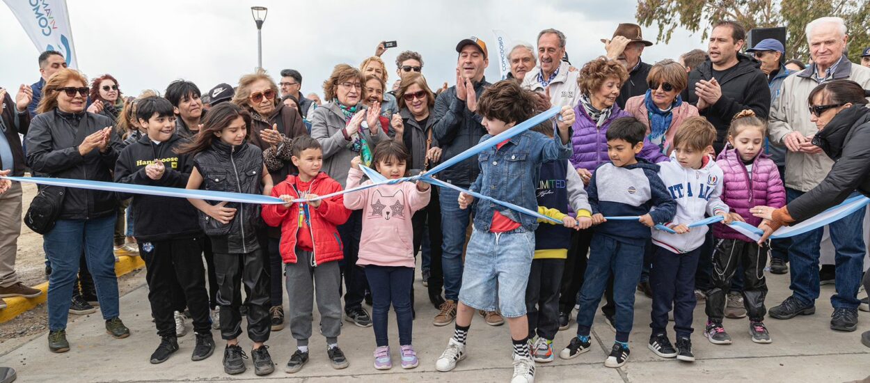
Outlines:
<svg viewBox="0 0 870 383"><path fill-rule="evenodd" d="M487 134L480 141L490 137ZM472 184L471 191L537 212L535 184L538 182L540 165L546 161L571 158L572 152L571 141L562 144L558 134L554 138L547 138L536 131L525 131L511 138L501 149L492 146L480 152L480 174ZM538 218L489 201L478 201L476 208L474 227L479 231L489 232L495 211L519 222L521 226L514 232L533 232L538 228Z"/></svg>

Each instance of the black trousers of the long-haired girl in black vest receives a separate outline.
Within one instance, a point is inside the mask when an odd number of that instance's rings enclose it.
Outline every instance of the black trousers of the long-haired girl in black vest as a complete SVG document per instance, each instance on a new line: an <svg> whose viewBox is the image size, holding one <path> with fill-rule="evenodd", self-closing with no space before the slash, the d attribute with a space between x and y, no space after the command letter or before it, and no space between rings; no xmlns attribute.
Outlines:
<svg viewBox="0 0 870 383"><path fill-rule="evenodd" d="M242 286L247 295L248 338L254 342L269 339L268 256L264 249L254 252L225 254L215 252L215 274L218 277L218 305L220 306L220 335L223 339L236 339L242 333Z"/></svg>

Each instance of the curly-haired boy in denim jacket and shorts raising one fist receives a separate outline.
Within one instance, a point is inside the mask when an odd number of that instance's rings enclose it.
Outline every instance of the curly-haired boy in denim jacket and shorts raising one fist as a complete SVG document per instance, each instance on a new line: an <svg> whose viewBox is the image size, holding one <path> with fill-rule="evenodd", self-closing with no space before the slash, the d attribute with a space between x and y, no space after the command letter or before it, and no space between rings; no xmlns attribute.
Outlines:
<svg viewBox="0 0 870 383"><path fill-rule="evenodd" d="M534 115L536 95L512 81L493 84L481 95L479 103L471 95L469 97L469 107L473 106L472 111L477 110L483 117L488 132L481 141ZM539 166L546 161L567 159L572 154L570 139L574 113L565 107L561 117L554 138L525 131L480 152L480 174L471 186L472 192L537 211L535 183L539 178ZM467 208L472 200L472 196L461 193L459 208ZM465 338L474 312L499 310L511 329L513 381L534 380L534 361L526 343L525 286L532 265L537 227L535 217L488 201L478 202L474 232L465 254L456 329L436 362L438 371L450 371L459 360L465 359Z"/></svg>

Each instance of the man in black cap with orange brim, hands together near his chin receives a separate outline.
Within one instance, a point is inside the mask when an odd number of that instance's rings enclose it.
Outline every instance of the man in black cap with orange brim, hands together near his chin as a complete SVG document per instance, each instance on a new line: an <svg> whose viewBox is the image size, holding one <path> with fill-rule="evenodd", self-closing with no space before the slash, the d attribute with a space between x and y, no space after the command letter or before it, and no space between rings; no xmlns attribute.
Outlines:
<svg viewBox="0 0 870 383"><path fill-rule="evenodd" d="M486 44L478 37L465 38L456 45L458 60L456 85L442 91L435 99L433 136L442 149L442 160L453 158L478 144L486 134L483 118L475 113L478 97L490 83L484 71L489 65ZM478 158L467 158L438 174L445 182L468 189L478 178ZM445 303L435 316L435 326L447 326L456 319L459 287L462 285L462 251L471 209L461 210L456 201L459 193L451 189L438 191L441 203L441 230L444 232L441 264L444 271ZM497 313L487 313L487 323L501 324ZM500 322L500 323L499 323Z"/></svg>

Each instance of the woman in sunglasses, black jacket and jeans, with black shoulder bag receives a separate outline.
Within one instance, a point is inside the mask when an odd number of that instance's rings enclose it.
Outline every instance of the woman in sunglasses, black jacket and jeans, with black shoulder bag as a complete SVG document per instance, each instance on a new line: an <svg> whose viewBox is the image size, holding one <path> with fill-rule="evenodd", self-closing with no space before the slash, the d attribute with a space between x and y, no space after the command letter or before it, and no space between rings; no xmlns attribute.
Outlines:
<svg viewBox="0 0 870 383"><path fill-rule="evenodd" d="M33 171L52 178L112 182L118 155L110 144L117 140L111 133L114 122L84 110L90 91L86 84L87 79L71 69L58 71L45 83L38 115L26 138L27 165ZM112 254L115 193L67 188L63 198L53 227L43 234L43 248L51 263L48 309L49 349L53 353L70 350L66 322L83 252L97 285L106 331L118 339L130 336L118 318Z"/></svg>

